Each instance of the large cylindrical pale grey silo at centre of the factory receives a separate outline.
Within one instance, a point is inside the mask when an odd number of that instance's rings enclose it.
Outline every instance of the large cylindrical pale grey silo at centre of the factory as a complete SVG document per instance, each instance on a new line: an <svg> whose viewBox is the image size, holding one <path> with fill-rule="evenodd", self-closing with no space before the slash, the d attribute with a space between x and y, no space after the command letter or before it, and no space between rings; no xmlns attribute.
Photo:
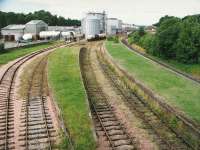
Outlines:
<svg viewBox="0 0 200 150"><path fill-rule="evenodd" d="M100 20L96 16L88 16L85 20L86 39L95 38L100 34Z"/></svg>

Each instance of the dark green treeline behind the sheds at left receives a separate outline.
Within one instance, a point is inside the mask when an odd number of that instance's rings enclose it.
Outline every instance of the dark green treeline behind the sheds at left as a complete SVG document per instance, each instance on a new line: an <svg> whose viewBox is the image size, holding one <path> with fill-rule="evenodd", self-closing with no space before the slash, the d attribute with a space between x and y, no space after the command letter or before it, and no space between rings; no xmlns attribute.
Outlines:
<svg viewBox="0 0 200 150"><path fill-rule="evenodd" d="M40 10L34 13L14 13L0 11L0 28L9 24L25 24L31 20L43 20L50 26L80 26L80 20L65 19L64 17L52 15L48 11Z"/></svg>

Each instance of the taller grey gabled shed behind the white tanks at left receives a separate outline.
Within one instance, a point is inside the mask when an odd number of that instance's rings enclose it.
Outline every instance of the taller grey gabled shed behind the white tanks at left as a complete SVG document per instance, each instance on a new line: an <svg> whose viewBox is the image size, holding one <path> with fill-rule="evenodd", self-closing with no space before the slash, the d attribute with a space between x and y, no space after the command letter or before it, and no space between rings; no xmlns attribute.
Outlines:
<svg viewBox="0 0 200 150"><path fill-rule="evenodd" d="M39 33L47 30L48 25L42 20L32 20L25 27L25 32L32 34L34 39L39 39Z"/></svg>

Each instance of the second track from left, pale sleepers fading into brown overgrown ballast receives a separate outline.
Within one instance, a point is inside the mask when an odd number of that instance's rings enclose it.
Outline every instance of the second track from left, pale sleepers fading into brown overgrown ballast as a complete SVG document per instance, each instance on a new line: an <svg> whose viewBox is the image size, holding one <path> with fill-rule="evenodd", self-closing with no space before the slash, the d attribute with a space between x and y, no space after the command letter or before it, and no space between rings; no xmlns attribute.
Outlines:
<svg viewBox="0 0 200 150"><path fill-rule="evenodd" d="M46 104L46 68L47 56L34 68L27 100L23 104L21 116L21 140L24 149L52 149L55 130Z"/></svg>

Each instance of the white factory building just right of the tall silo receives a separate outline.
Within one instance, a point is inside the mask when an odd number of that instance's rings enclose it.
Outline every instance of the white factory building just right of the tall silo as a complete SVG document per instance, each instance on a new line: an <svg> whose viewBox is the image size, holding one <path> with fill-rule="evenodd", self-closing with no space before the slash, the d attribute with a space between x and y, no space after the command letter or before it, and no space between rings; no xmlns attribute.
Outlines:
<svg viewBox="0 0 200 150"><path fill-rule="evenodd" d="M107 34L115 35L122 32L122 21L117 18L107 19Z"/></svg>

